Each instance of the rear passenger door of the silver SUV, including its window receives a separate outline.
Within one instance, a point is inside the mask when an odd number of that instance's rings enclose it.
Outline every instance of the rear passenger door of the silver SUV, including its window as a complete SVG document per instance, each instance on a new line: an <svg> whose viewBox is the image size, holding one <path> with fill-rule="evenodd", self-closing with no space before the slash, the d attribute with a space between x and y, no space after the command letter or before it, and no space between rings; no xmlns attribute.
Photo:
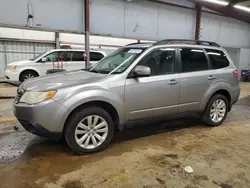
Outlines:
<svg viewBox="0 0 250 188"><path fill-rule="evenodd" d="M181 57L179 113L200 110L209 86L216 81L205 51L201 48L179 48Z"/></svg>

